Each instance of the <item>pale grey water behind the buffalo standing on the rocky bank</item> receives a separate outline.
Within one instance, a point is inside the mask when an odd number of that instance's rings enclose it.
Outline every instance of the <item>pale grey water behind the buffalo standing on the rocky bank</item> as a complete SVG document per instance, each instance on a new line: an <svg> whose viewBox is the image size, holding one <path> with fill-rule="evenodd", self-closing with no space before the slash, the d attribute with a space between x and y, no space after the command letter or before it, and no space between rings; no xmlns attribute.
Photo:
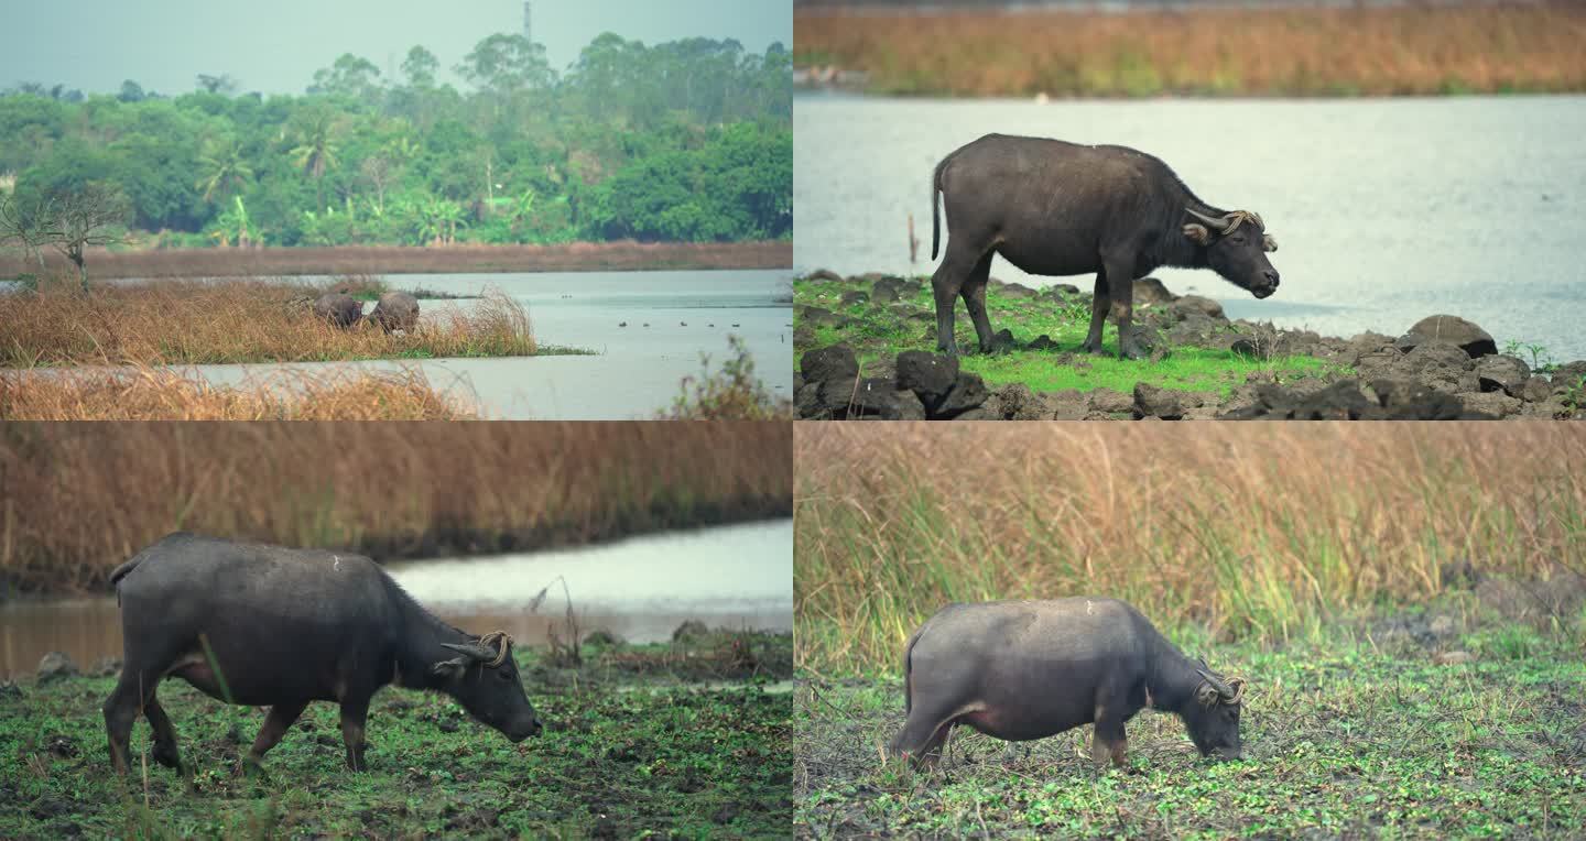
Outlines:
<svg viewBox="0 0 1586 841"><path fill-rule="evenodd" d="M1283 287L1266 301L1209 271L1156 272L1174 291L1223 301L1229 317L1396 336L1448 312L1500 345L1540 342L1557 361L1586 358L1586 97L1036 105L804 95L793 111L798 271L929 274L931 171L985 133L1112 143L1161 157L1212 204L1259 212L1277 236ZM1001 258L991 274L1074 282L1028 277Z"/></svg>

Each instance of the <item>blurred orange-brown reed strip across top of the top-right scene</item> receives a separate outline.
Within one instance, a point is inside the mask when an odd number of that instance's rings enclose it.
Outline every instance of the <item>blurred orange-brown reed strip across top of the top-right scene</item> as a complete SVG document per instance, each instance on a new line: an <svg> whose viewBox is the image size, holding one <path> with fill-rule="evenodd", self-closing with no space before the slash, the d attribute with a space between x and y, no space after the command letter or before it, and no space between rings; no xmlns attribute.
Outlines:
<svg viewBox="0 0 1586 841"><path fill-rule="evenodd" d="M1586 90L1586 5L796 14L801 65L896 93Z"/></svg>

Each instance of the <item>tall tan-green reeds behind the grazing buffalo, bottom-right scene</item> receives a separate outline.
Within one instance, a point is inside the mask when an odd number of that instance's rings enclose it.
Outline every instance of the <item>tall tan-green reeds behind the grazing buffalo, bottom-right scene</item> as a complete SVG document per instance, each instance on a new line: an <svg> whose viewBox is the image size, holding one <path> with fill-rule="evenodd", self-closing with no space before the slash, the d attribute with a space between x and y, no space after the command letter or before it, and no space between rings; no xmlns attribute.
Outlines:
<svg viewBox="0 0 1586 841"><path fill-rule="evenodd" d="M947 602L1113 596L1278 641L1454 569L1586 572L1576 424L798 424L793 450L815 672L896 668Z"/></svg>

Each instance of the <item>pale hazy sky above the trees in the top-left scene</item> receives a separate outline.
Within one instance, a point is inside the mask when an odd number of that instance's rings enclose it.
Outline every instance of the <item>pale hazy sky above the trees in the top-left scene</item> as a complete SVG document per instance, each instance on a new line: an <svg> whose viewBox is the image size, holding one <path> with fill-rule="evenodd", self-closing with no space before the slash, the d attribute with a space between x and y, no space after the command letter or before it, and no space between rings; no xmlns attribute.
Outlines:
<svg viewBox="0 0 1586 841"><path fill-rule="evenodd" d="M763 52L793 46L790 0L533 0L533 38L565 70L601 32L646 44L737 38ZM522 32L522 0L0 0L0 89L63 82L113 93L193 90L200 73L228 73L241 92L301 93L336 55L362 55L401 76L423 44L447 78L479 40Z"/></svg>

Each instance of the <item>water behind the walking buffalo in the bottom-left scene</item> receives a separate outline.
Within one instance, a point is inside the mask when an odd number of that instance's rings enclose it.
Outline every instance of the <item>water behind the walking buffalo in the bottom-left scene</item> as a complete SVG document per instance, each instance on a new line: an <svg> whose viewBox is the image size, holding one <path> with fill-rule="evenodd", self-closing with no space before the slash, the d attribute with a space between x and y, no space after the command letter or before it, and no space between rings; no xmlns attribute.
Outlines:
<svg viewBox="0 0 1586 841"><path fill-rule="evenodd" d="M396 581L446 621L474 632L503 629L544 645L560 622L566 580L579 627L630 641L671 638L687 619L711 627L793 629L793 523L750 523L636 537L603 546L435 559L387 565ZM550 588L538 610L531 602ZM113 597L0 605L0 678L30 673L49 651L79 667L121 656Z"/></svg>

